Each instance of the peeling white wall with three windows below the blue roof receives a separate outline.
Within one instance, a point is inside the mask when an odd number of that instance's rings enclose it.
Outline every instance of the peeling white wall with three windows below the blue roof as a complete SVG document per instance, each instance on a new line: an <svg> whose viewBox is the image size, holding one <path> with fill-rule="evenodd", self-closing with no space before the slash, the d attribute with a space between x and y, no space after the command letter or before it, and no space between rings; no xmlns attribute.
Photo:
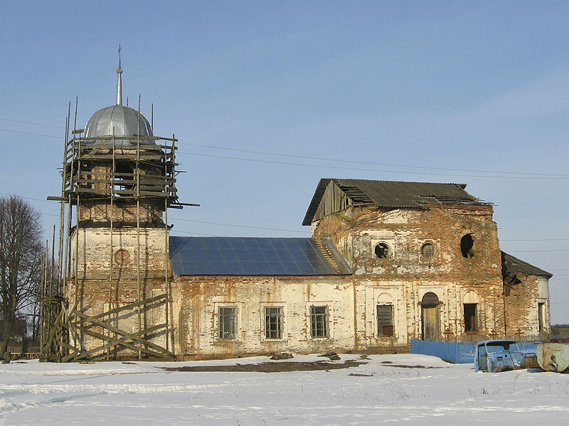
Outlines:
<svg viewBox="0 0 569 426"><path fill-rule="evenodd" d="M207 281L207 277L200 281ZM213 280L216 280L213 277ZM190 354L199 356L231 356L233 354L275 353L353 348L353 287L351 281L328 280L280 280L279 278L236 278L221 285L200 285L183 283L182 287L197 285L200 290L193 297L194 302L184 312L188 332L183 338L191 347ZM213 290L210 291L209 289ZM197 289L196 289L197 290ZM196 303L196 298L199 302ZM329 336L312 338L310 307L328 307ZM237 308L236 339L219 339L218 307ZM265 338L265 307L283 307L282 339ZM194 312L191 312L191 311ZM195 312L198 310L198 312ZM196 324L196 322L198 322ZM191 332L197 327L196 332Z"/></svg>

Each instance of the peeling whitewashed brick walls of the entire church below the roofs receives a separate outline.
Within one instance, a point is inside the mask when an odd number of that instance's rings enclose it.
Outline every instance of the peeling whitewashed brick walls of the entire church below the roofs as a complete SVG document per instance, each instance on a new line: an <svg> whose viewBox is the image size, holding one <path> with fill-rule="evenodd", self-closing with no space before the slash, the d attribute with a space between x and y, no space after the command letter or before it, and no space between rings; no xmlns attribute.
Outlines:
<svg viewBox="0 0 569 426"><path fill-rule="evenodd" d="M78 234L81 306L100 313L109 301L110 229L80 228ZM151 297L166 291L168 240L160 228L143 228L140 236L142 297ZM169 344L176 353L197 359L280 351L406 351L410 339L422 337L427 321L423 320L427 305L422 303L432 295L437 300L434 318L439 339L466 333L464 303L476 305L477 334L536 332L537 301L548 300L547 280L544 284L528 277L511 290L504 310L501 252L490 206L348 207L322 218L314 226L314 236L329 236L353 275L173 278ZM472 248L461 244L464 236L472 238ZM430 258L421 251L425 243L434 246ZM378 244L388 247L383 258L376 254ZM136 247L136 229L115 229L111 286L115 305L137 300ZM69 292L73 300L75 285L70 285ZM378 305L393 307L393 333L379 329ZM312 306L327 309L326 337L312 336ZM236 329L231 338L220 337L220 307L235 308ZM278 339L267 339L267 307L282 309ZM543 314L547 324L548 309L547 304ZM164 322L165 315L164 304L152 307L143 312L143 322L149 327ZM133 331L138 327L137 318L128 315L119 322ZM153 337L162 345L165 338L164 334ZM84 344L97 342L85 337Z"/></svg>

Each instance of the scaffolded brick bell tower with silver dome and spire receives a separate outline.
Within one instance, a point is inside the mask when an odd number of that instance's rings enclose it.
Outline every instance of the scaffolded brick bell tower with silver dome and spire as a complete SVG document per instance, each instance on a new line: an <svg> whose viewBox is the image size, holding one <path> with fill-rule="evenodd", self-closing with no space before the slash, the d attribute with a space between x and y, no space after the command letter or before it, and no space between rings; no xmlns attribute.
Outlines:
<svg viewBox="0 0 569 426"><path fill-rule="evenodd" d="M59 318L44 332L44 359L174 359L167 212L184 205L176 141L122 105L119 48L117 102L71 132L61 196L48 197L61 202L61 285L44 297L46 317Z"/></svg>

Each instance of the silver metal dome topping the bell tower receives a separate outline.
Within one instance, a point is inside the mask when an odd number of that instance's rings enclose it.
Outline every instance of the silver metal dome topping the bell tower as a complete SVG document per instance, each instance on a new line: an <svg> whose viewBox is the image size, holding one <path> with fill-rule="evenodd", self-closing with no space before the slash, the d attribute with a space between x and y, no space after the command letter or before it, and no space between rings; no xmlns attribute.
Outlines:
<svg viewBox="0 0 569 426"><path fill-rule="evenodd" d="M136 109L124 107L124 105L112 105L95 112L87 121L85 125L85 138L97 136L102 138L108 136L112 138L113 128L115 129L115 138L117 136L133 136L139 133L140 121L140 135L141 136L154 136L152 128L145 116L139 114ZM92 141L92 143L102 144L105 143L102 139ZM115 139L117 145L130 145L136 141L128 139ZM147 139L141 139L140 143L154 143Z"/></svg>

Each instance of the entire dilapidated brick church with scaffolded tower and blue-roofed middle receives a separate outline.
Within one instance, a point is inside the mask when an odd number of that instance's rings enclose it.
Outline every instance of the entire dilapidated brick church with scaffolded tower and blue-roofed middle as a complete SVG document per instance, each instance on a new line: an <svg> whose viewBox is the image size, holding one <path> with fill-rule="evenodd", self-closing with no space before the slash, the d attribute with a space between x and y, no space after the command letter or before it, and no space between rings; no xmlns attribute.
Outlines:
<svg viewBox="0 0 569 426"><path fill-rule="evenodd" d="M116 104L73 132L50 197L70 226L67 320L46 359L385 353L550 331L551 274L500 250L492 204L464 184L325 178L310 238L170 236L177 139L122 105L117 73Z"/></svg>

